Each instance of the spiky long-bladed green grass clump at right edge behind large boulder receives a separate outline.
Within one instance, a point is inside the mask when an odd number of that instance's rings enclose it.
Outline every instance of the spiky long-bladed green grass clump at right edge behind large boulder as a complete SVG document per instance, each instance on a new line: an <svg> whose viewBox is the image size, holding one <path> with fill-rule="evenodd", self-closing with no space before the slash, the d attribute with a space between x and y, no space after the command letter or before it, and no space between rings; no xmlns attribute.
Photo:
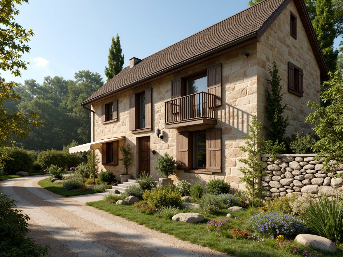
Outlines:
<svg viewBox="0 0 343 257"><path fill-rule="evenodd" d="M317 195L318 196L318 195ZM302 218L308 231L330 239L335 244L342 241L343 203L327 195L311 201Z"/></svg>

